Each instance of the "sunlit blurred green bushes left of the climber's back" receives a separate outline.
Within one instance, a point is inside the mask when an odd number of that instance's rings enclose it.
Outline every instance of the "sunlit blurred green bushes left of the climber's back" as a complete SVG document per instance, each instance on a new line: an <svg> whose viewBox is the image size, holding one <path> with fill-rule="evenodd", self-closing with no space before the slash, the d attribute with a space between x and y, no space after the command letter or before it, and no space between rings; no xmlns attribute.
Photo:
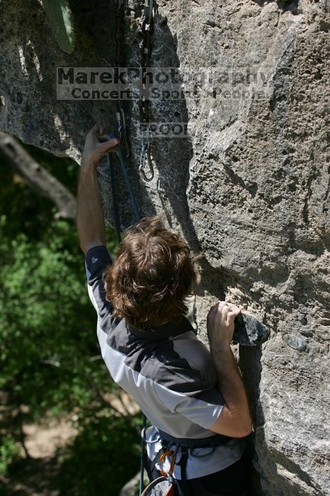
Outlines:
<svg viewBox="0 0 330 496"><path fill-rule="evenodd" d="M47 234L47 244L21 234L0 248L0 388L9 387L34 415L87 407L91 384L108 377L91 361L99 354L95 314L76 232L59 221Z"/></svg>

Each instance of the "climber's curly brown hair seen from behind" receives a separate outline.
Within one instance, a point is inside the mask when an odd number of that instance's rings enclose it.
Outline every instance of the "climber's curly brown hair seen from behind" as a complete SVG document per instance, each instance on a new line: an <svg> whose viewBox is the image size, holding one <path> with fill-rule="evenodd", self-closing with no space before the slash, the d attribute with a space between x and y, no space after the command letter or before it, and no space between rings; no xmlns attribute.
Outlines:
<svg viewBox="0 0 330 496"><path fill-rule="evenodd" d="M127 231L117 259L103 275L115 317L142 330L180 322L188 311L184 300L200 281L201 256L191 254L161 217L142 219Z"/></svg>

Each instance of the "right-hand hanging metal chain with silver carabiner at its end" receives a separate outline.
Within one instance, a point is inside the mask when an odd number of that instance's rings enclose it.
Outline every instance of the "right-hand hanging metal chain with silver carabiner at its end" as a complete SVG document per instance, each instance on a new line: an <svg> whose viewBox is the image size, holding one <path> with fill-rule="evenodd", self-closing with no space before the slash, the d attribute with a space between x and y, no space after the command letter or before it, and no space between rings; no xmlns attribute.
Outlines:
<svg viewBox="0 0 330 496"><path fill-rule="evenodd" d="M154 167L151 157L152 133L150 130L150 109L149 109L149 85L144 82L144 74L150 66L152 55L151 37L154 33L153 0L144 2L144 19L142 21L142 45L141 45L141 67L142 67L142 95L140 98L140 125L142 125L142 147L140 153L139 171L145 181L154 179ZM146 167L147 159L147 167ZM149 169L149 171L147 171Z"/></svg>

